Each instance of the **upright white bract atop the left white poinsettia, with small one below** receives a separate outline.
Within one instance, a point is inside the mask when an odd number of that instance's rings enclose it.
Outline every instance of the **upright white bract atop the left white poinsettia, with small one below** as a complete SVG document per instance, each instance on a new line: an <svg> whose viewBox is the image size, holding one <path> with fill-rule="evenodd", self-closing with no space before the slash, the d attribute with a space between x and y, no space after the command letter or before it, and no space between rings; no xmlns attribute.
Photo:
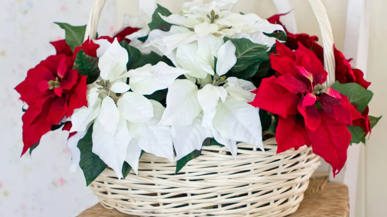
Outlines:
<svg viewBox="0 0 387 217"><path fill-rule="evenodd" d="M113 43L106 49L104 54L99 58L98 68L101 71L102 85L106 91L114 93L125 93L130 89L127 85L126 77L121 76L126 73L126 64L128 63L128 52L114 39Z"/></svg>

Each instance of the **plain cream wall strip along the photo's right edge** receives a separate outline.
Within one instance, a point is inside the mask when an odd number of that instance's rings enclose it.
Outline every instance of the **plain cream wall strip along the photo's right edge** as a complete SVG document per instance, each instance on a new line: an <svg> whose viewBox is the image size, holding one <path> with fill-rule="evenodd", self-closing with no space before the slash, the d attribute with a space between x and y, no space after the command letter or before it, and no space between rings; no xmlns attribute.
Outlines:
<svg viewBox="0 0 387 217"><path fill-rule="evenodd" d="M366 142L366 213L367 217L387 216L387 1L370 1L370 40L367 79L372 82L370 90L375 94L370 103L370 114L384 115L372 130Z"/></svg>

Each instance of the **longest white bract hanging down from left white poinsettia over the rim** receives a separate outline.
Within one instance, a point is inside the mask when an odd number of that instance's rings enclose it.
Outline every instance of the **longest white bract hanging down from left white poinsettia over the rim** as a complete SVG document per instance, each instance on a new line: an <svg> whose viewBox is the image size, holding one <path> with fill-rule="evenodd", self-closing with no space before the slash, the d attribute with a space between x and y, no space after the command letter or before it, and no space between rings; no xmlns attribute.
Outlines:
<svg viewBox="0 0 387 217"><path fill-rule="evenodd" d="M131 139L127 120L120 116L113 99L105 97L93 125L92 152L110 166L118 178L122 176L122 165Z"/></svg>

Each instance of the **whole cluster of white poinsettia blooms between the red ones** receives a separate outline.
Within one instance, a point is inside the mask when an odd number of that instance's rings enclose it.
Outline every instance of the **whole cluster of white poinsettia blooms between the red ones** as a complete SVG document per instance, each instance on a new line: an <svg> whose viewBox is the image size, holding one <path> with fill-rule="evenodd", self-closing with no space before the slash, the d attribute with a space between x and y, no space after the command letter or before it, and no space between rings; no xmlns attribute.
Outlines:
<svg viewBox="0 0 387 217"><path fill-rule="evenodd" d="M92 152L118 177L122 176L124 161L137 173L141 151L174 162L200 150L206 138L228 147L235 158L237 142L264 150L259 108L248 104L255 97L251 93L255 86L235 77L220 77L237 62L236 46L223 38L245 37L271 46L274 41L263 33L283 28L255 14L231 13L235 2L204 4L194 0L185 3L180 14L160 15L174 24L170 31L155 29L144 44L136 47L142 53L165 55L176 68L159 62L127 71L130 57L117 39L113 43L94 41L100 46L97 56L101 73L88 85L88 106L74 110L72 115L70 132L77 134L68 140L71 171L79 164L77 142L93 123ZM187 79L181 79L181 75ZM166 108L144 96L166 88Z"/></svg>

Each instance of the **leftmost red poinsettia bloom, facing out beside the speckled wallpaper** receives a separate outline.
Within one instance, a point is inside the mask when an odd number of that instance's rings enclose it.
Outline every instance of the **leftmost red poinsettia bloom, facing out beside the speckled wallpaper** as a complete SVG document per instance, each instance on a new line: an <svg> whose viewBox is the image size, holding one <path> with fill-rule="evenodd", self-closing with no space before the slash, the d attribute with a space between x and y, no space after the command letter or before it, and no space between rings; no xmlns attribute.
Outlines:
<svg viewBox="0 0 387 217"><path fill-rule="evenodd" d="M59 124L74 109L87 106L86 78L72 70L71 57L65 54L49 56L27 73L26 80L16 86L20 99L29 107L24 113L22 155L41 136Z"/></svg>

